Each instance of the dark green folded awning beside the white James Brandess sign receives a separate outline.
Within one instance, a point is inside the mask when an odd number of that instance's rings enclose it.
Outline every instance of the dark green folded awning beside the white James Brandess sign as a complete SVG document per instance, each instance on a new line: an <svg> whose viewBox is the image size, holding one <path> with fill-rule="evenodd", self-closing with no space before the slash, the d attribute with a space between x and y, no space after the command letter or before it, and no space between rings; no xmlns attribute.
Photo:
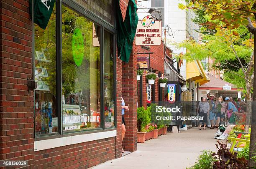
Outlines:
<svg viewBox="0 0 256 169"><path fill-rule="evenodd" d="M116 2L118 2L116 12L118 57L124 62L129 62L138 24L137 5L134 0L129 0L125 20L123 21L119 0Z"/></svg>

